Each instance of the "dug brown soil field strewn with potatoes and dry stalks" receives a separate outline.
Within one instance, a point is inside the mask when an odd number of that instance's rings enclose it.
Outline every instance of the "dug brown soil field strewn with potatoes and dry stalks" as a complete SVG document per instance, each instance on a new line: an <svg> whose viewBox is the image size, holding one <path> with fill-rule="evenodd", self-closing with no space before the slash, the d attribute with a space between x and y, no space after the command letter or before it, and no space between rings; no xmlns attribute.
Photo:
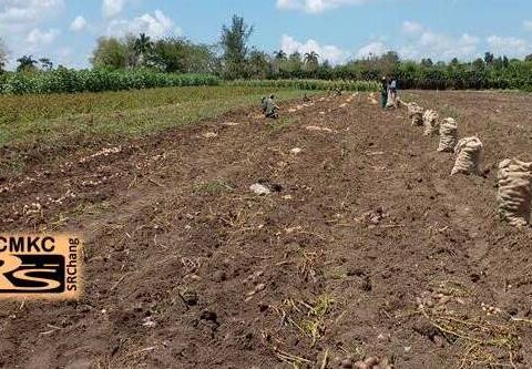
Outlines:
<svg viewBox="0 0 532 369"><path fill-rule="evenodd" d="M451 177L406 110L349 96L74 143L0 178L0 229L84 239L79 301L0 303L0 366L532 368L532 229L495 216L499 162L532 156L532 95L406 94L479 135L478 177Z"/></svg>

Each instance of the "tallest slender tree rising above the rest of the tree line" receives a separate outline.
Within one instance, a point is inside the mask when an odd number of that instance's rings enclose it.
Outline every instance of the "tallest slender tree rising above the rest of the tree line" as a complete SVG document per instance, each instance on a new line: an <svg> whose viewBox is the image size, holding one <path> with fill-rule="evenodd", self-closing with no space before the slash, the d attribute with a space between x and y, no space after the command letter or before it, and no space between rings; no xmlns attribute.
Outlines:
<svg viewBox="0 0 532 369"><path fill-rule="evenodd" d="M224 51L225 74L229 79L243 76L248 54L247 42L253 33L244 18L233 16L232 24L222 28L221 44Z"/></svg>

